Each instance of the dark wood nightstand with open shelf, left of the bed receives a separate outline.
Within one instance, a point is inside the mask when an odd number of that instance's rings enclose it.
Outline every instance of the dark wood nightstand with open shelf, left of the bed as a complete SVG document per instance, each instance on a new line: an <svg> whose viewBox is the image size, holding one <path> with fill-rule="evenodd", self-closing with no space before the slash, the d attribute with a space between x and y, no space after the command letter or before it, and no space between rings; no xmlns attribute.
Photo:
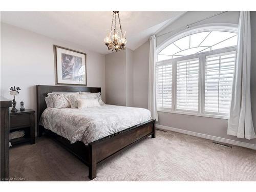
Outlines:
<svg viewBox="0 0 256 192"><path fill-rule="evenodd" d="M12 145L30 142L35 143L35 111L26 109L25 111L18 110L17 112L10 111L10 132L25 131L25 136L22 138L11 139Z"/></svg>

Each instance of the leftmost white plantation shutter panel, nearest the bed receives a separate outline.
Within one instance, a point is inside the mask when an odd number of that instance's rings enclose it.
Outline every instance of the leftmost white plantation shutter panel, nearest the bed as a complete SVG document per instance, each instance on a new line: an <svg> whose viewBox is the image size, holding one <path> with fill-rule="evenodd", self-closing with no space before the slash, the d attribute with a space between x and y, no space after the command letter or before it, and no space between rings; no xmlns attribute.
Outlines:
<svg viewBox="0 0 256 192"><path fill-rule="evenodd" d="M156 67L157 107L172 108L173 65L168 63Z"/></svg>

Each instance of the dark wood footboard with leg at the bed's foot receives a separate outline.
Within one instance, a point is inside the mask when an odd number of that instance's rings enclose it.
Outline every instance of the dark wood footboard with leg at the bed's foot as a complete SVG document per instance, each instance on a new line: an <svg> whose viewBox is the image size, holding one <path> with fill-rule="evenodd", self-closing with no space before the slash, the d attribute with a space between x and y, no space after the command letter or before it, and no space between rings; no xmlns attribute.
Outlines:
<svg viewBox="0 0 256 192"><path fill-rule="evenodd" d="M97 163L150 135L156 137L155 119L89 143L89 178L96 177Z"/></svg>

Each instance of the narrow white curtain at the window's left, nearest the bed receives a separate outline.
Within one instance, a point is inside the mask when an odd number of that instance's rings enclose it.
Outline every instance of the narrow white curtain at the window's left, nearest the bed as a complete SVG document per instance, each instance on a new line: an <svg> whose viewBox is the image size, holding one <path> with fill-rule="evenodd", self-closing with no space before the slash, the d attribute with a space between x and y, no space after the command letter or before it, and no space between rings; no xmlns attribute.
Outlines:
<svg viewBox="0 0 256 192"><path fill-rule="evenodd" d="M150 62L148 71L148 110L151 112L151 117L158 121L157 101L156 101L156 37L150 37Z"/></svg>

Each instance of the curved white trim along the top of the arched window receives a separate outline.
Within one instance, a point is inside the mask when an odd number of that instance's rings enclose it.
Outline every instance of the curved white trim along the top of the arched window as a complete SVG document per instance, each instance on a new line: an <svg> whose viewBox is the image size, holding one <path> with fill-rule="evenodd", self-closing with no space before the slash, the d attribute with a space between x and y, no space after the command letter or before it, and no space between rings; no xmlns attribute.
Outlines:
<svg viewBox="0 0 256 192"><path fill-rule="evenodd" d="M156 47L156 55L158 55L158 53L162 51L165 47L172 44L174 41L179 40L182 37L185 37L194 33L205 32L205 31L226 31L226 32L232 32L232 33L238 33L238 25L227 24L227 23L215 23L215 24L199 25L199 26L182 30L168 37L163 42L161 42L161 44Z"/></svg>

